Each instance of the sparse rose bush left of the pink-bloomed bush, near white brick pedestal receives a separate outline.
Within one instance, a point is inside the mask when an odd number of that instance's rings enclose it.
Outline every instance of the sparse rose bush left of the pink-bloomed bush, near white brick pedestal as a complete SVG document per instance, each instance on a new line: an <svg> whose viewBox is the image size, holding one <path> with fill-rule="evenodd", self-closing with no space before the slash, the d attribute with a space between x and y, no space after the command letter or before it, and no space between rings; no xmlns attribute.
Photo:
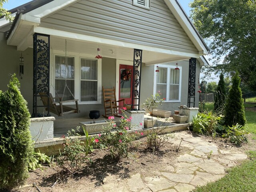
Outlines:
<svg viewBox="0 0 256 192"><path fill-rule="evenodd" d="M87 156L94 150L94 138L90 138L88 132L84 128L83 130L86 136L85 141L81 140L81 135L76 133L74 129L68 131L68 137L62 136L64 148L60 150L57 163L70 174L80 171L82 164L87 160L90 161ZM71 138L72 136L74 136L73 139Z"/></svg>

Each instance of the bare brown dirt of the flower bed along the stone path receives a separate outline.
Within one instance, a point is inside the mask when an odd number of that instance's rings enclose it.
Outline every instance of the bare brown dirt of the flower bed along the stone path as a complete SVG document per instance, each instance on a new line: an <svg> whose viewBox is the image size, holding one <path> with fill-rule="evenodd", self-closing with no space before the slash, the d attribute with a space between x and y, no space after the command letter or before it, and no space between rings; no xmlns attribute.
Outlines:
<svg viewBox="0 0 256 192"><path fill-rule="evenodd" d="M190 131L185 131L187 134L194 134ZM175 136L175 133L174 133ZM200 136L207 142L214 142L219 149L236 150L245 152L256 149L256 141L251 139L249 142L237 147L226 145L223 139L217 138L212 140L210 137ZM58 166L45 167L43 171L40 169L29 172L29 178L26 184L33 184L34 182L42 190L42 192L76 192L76 189L84 188L84 191L92 191L96 186L104 184L104 178L108 176L108 182L120 182L129 178L130 176L140 173L143 176L152 176L155 171L164 171L168 165L175 164L175 158L180 154L185 154L191 150L186 147L181 147L177 152L177 147L172 142L168 141L159 151L155 152L154 161L153 153L147 149L146 138L140 138L134 141L131 147L129 158L124 158L119 162L111 162L106 156L106 152L96 149L90 158L92 164L84 164L82 171L74 175L69 175L63 172ZM58 180L59 179L59 180ZM58 182L54 185L54 183ZM36 192L36 188L28 187L20 192Z"/></svg>

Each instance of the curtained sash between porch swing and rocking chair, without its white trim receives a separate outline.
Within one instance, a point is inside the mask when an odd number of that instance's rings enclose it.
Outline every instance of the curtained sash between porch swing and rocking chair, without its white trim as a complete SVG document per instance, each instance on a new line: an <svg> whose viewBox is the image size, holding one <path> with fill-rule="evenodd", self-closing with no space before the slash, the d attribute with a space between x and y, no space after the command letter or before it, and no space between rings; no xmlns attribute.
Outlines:
<svg viewBox="0 0 256 192"><path fill-rule="evenodd" d="M97 60L81 58L81 101L97 101L98 90L98 68Z"/></svg>

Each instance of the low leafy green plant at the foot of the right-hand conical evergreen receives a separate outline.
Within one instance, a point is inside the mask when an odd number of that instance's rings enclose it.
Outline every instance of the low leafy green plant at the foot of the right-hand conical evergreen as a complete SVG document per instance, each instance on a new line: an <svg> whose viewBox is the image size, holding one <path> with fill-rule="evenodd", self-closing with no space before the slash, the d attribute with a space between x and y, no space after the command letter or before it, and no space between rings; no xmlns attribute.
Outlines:
<svg viewBox="0 0 256 192"><path fill-rule="evenodd" d="M232 127L228 126L228 130L226 130L226 133L224 133L222 137L228 138L227 143L230 141L236 145L240 145L243 142L248 142L246 134L248 134L248 132L246 132L244 127L236 124Z"/></svg>

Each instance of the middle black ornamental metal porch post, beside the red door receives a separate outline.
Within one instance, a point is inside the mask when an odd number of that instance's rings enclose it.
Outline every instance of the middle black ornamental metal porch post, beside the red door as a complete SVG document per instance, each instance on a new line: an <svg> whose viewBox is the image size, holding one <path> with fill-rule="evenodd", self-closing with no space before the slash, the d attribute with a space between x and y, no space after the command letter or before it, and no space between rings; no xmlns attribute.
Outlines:
<svg viewBox="0 0 256 192"><path fill-rule="evenodd" d="M142 50L134 49L132 78L132 110L140 110L140 80L142 67Z"/></svg>

